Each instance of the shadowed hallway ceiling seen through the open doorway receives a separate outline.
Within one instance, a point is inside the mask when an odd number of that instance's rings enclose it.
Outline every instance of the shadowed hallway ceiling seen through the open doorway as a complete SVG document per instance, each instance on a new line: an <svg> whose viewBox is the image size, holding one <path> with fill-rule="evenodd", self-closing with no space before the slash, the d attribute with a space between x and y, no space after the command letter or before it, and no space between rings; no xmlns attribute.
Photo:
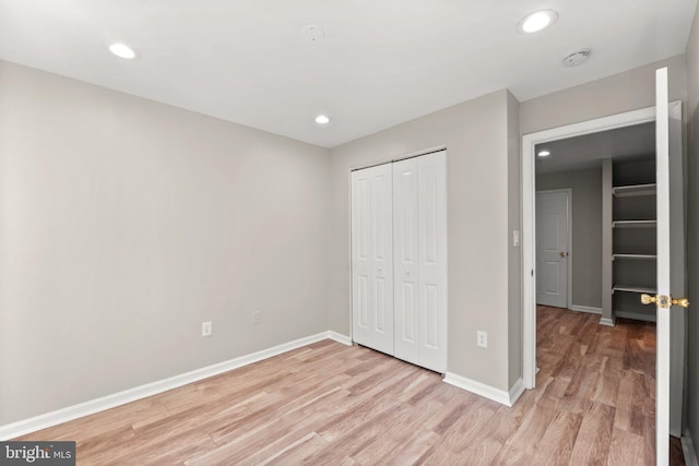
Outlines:
<svg viewBox="0 0 699 466"><path fill-rule="evenodd" d="M602 166L602 160L655 155L655 122L636 124L536 145L548 157L536 157L536 174Z"/></svg>

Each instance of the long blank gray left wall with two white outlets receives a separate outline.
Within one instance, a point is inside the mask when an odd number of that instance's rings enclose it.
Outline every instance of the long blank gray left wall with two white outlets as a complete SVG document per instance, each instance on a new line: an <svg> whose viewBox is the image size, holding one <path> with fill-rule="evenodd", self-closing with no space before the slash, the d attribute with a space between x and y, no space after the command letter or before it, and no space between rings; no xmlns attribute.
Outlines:
<svg viewBox="0 0 699 466"><path fill-rule="evenodd" d="M327 331L329 170L0 62L0 425Z"/></svg>

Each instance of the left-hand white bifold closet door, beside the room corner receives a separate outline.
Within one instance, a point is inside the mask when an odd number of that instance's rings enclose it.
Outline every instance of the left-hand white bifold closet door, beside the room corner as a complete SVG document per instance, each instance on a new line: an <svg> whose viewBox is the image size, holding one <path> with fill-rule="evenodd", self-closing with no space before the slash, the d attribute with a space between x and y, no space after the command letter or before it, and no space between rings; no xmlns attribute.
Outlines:
<svg viewBox="0 0 699 466"><path fill-rule="evenodd" d="M352 338L393 355L391 164L352 172Z"/></svg>

